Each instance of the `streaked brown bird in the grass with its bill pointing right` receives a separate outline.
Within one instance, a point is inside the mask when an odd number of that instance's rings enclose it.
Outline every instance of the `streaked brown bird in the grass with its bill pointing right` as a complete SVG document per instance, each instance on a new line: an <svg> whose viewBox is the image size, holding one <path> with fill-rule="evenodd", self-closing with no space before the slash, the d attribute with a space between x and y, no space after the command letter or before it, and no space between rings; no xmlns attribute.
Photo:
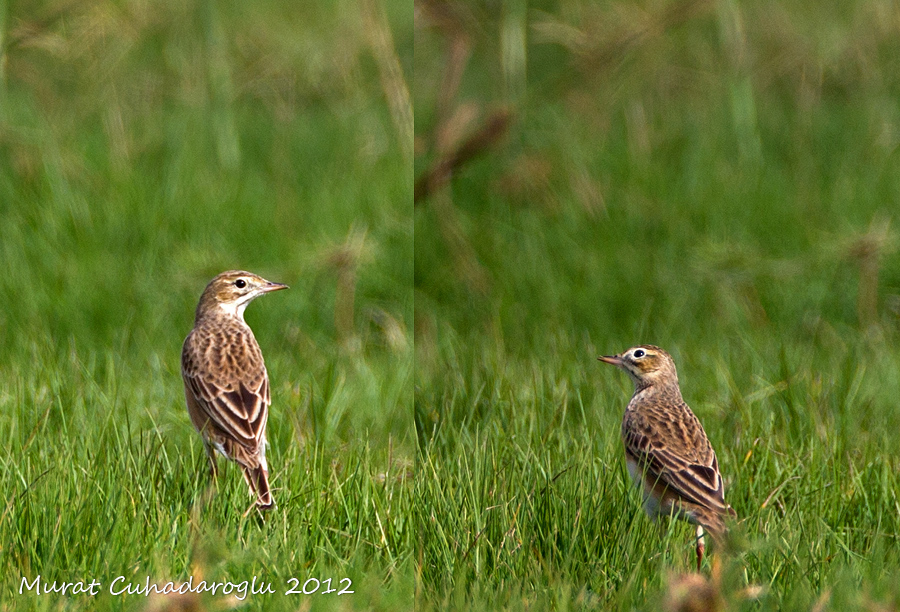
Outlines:
<svg viewBox="0 0 900 612"><path fill-rule="evenodd" d="M200 296L181 350L187 410L203 438L210 473L214 479L219 473L216 452L237 463L261 510L274 505L266 462L272 400L262 351L244 310L259 296L287 288L243 270L219 274Z"/></svg>

